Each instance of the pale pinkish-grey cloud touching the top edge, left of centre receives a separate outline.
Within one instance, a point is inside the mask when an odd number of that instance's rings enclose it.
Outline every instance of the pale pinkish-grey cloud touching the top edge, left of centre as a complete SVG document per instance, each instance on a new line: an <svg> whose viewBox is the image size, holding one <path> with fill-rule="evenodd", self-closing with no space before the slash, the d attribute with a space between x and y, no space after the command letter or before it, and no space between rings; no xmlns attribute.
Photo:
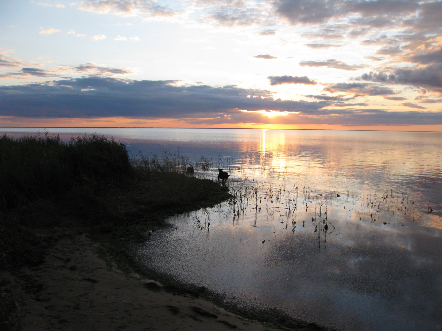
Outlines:
<svg viewBox="0 0 442 331"><path fill-rule="evenodd" d="M177 14L167 5L160 5L156 1L136 0L99 0L83 1L72 3L82 11L97 14L111 14L120 16L141 16L141 17L170 17Z"/></svg>

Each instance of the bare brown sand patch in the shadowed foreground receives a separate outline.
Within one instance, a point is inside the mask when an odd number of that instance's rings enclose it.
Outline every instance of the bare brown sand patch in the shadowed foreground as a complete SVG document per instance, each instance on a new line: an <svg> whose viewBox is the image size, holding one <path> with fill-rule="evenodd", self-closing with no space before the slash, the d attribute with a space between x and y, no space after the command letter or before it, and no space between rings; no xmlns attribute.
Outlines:
<svg viewBox="0 0 442 331"><path fill-rule="evenodd" d="M37 300L27 303L23 331L276 330L191 294L149 290L145 283L152 280L124 275L100 259L97 248L84 233L68 234L44 263L20 271L27 299Z"/></svg>

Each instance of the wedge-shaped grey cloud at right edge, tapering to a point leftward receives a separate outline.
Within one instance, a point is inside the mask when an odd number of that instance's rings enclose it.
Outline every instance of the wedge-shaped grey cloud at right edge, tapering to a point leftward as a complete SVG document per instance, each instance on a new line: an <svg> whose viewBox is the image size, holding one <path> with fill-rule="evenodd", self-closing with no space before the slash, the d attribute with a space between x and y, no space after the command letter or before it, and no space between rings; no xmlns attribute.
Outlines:
<svg viewBox="0 0 442 331"><path fill-rule="evenodd" d="M381 71L363 74L356 79L379 83L394 83L426 87L442 92L442 64L431 64L424 68L399 68L392 71Z"/></svg>

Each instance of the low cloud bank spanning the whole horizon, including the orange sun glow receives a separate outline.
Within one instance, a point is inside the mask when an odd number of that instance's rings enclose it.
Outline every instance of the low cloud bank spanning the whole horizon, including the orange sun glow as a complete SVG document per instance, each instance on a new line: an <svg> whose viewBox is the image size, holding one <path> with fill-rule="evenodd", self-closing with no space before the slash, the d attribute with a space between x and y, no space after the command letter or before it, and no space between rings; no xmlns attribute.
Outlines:
<svg viewBox="0 0 442 331"><path fill-rule="evenodd" d="M365 104L341 100L274 100L267 90L178 83L90 77L0 86L0 116L171 118L195 124L442 124L442 112L361 109L357 105ZM339 109L328 108L333 105Z"/></svg>

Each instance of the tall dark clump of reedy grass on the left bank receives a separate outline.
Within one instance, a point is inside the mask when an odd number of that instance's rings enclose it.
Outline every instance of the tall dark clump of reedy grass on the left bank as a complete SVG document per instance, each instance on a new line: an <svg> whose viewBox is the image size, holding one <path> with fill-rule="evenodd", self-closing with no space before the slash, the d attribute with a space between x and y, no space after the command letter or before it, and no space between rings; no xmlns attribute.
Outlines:
<svg viewBox="0 0 442 331"><path fill-rule="evenodd" d="M60 199L88 187L103 189L130 176L126 147L91 135L61 141L59 136L0 137L0 207L36 197Z"/></svg>

